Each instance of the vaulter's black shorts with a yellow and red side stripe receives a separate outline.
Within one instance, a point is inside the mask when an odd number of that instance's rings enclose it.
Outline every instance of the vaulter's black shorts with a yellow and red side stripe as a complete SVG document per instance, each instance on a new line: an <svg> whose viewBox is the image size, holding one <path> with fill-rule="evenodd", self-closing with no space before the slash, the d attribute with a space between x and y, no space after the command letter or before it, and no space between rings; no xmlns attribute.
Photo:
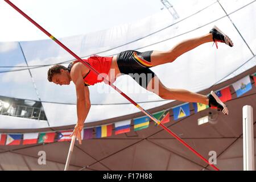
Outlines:
<svg viewBox="0 0 256 182"><path fill-rule="evenodd" d="M123 51L117 55L117 65L122 74L131 76L143 88L147 89L148 82L156 76L149 69L151 64L151 53L153 51Z"/></svg>

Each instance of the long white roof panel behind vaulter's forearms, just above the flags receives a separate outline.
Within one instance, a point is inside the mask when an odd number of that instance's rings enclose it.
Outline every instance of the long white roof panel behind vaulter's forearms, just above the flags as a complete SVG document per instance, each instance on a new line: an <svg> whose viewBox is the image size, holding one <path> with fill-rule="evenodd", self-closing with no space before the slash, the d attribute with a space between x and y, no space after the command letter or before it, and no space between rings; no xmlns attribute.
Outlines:
<svg viewBox="0 0 256 182"><path fill-rule="evenodd" d="M139 105L147 110L167 104L168 102L170 101L150 102ZM77 123L76 105L43 103L43 107L51 127L74 125ZM90 107L89 114L85 119L85 123L107 120L110 118L120 117L122 115L138 113L139 111L140 110L133 104L92 105Z"/></svg>

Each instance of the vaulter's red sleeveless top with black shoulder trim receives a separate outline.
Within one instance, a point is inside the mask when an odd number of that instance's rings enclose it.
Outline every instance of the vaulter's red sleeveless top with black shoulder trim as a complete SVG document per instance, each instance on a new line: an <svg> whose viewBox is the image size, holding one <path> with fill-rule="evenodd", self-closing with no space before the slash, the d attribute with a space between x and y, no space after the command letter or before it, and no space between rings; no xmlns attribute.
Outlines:
<svg viewBox="0 0 256 182"><path fill-rule="evenodd" d="M91 56L88 59L82 59L86 63L88 63L91 67L96 69L98 73L105 73L102 76L106 76L109 73L110 66L112 63L113 57L101 57L101 56ZM71 68L73 64L79 62L78 60L73 61L68 65L68 71L71 72ZM98 82L102 82L103 78L98 78L98 75L94 73L93 71L89 70L89 72L84 76L84 84L85 86L90 86L97 84Z"/></svg>

